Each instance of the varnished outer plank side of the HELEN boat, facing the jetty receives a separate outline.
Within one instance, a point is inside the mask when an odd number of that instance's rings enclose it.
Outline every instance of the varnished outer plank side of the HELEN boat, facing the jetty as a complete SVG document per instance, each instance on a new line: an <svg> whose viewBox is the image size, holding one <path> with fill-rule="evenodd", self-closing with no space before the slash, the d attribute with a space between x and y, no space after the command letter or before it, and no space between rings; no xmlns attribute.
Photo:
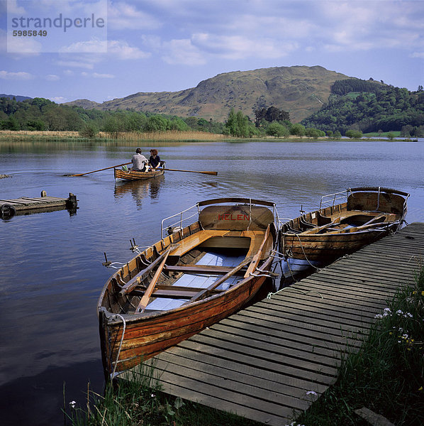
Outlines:
<svg viewBox="0 0 424 426"><path fill-rule="evenodd" d="M271 261L262 265L262 270L269 271ZM172 312L164 312L152 317L140 317L126 320L125 338L122 339L123 321L109 314L106 310L99 312L101 340L108 356L104 359L106 371L125 371L152 358L165 349L197 334L225 317L237 312L247 305L259 292L266 277L249 278L223 295L208 297L207 300L194 302Z"/></svg>

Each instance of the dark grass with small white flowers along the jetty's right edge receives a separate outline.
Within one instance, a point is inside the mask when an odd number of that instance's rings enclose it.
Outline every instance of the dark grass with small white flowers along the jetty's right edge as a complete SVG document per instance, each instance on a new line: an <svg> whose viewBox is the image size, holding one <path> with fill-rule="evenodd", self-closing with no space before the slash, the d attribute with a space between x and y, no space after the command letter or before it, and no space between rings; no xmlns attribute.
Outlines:
<svg viewBox="0 0 424 426"><path fill-rule="evenodd" d="M415 284L388 302L355 354L342 360L337 382L294 424L369 425L366 407L395 425L424 425L424 267Z"/></svg>

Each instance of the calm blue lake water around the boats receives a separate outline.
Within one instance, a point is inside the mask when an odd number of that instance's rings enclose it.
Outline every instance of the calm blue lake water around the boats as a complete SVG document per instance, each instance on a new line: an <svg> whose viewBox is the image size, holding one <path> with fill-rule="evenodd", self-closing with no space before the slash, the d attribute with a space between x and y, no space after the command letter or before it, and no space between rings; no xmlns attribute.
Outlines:
<svg viewBox="0 0 424 426"><path fill-rule="evenodd" d="M151 146L143 147L146 155ZM113 171L135 147L0 145L0 198L77 195L66 210L0 219L0 418L2 425L63 425L66 403L84 403L87 383L101 392L96 301L113 272L108 260L147 246L160 221L208 198L244 196L277 203L280 217L316 209L320 196L355 186L411 193L409 223L424 222L424 141L196 143L159 147L169 168L155 182L118 184Z"/></svg>

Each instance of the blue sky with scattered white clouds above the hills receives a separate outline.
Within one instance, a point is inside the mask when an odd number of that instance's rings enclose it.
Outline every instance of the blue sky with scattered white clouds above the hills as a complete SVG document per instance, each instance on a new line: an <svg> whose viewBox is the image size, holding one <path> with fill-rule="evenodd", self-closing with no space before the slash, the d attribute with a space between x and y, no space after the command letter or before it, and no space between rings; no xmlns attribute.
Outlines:
<svg viewBox="0 0 424 426"><path fill-rule="evenodd" d="M416 90L424 0L0 0L4 94L104 102L293 65Z"/></svg>

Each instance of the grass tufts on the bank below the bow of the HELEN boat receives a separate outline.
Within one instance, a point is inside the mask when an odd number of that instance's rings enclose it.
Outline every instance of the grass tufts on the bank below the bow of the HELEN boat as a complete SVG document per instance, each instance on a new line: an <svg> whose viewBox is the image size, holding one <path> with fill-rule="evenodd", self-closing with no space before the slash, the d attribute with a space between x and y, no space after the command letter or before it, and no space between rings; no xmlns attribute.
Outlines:
<svg viewBox="0 0 424 426"><path fill-rule="evenodd" d="M260 423L162 393L154 366L141 364L125 380L106 384L103 395L87 391L87 403L66 403L71 426L260 426Z"/></svg>

